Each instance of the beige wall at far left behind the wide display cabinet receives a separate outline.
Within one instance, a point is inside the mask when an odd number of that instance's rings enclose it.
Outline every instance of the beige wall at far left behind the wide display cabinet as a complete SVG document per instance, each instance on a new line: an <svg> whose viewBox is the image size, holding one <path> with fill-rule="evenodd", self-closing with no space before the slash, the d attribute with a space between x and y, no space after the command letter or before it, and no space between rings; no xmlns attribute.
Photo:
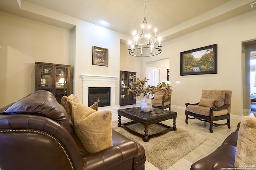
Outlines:
<svg viewBox="0 0 256 170"><path fill-rule="evenodd" d="M34 92L35 61L70 64L72 34L0 12L0 107Z"/></svg>

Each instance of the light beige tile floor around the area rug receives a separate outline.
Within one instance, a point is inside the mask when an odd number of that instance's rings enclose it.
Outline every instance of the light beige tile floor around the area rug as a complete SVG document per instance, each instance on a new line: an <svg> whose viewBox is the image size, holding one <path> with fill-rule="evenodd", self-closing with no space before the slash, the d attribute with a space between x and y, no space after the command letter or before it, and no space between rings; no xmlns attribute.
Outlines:
<svg viewBox="0 0 256 170"><path fill-rule="evenodd" d="M139 104L120 106L120 108L129 108L129 107L139 107ZM216 148L218 148L222 142L226 139L230 133L236 130L237 124L241 121L238 119L230 119L231 129L228 129L227 126L213 127L213 133L209 132L209 123L199 121L197 119L188 119L188 124L185 123L185 110L172 108L172 111L178 113L176 119L177 128L186 129L188 131L193 131L195 133L200 133L201 135L207 136L209 139L202 143L199 147L194 149L192 152L184 156L178 162L170 166L167 170L189 170L190 166L197 160L207 156L212 153ZM118 120L117 109L112 110L113 121ZM217 121L216 121L217 122ZM218 123L226 121L218 121ZM168 121L165 122L168 124ZM172 121L170 121L172 126ZM158 170L150 162L146 161L145 170Z"/></svg>

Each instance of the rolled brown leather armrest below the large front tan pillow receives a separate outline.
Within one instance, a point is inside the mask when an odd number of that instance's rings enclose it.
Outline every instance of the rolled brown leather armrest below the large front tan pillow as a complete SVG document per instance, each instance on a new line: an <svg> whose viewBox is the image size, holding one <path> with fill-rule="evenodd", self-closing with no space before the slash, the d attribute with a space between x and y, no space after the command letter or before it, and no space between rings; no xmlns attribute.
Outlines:
<svg viewBox="0 0 256 170"><path fill-rule="evenodd" d="M125 141L108 149L83 156L84 170L106 170L138 155L134 141Z"/></svg>

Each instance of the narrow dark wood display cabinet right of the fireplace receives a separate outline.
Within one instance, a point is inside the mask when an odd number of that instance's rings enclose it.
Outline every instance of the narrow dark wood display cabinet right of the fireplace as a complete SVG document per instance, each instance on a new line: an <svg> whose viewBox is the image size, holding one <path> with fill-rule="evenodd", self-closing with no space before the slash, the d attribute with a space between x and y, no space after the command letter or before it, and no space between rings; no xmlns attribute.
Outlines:
<svg viewBox="0 0 256 170"><path fill-rule="evenodd" d="M136 104L134 94L127 95L128 87L133 82L132 76L135 76L136 72L120 71L120 106Z"/></svg>

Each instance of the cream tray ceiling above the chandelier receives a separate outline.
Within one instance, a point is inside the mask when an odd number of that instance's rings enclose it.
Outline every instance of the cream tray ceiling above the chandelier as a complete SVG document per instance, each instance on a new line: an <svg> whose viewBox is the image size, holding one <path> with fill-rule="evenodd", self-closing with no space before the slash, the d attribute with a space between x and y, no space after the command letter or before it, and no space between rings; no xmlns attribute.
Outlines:
<svg viewBox="0 0 256 170"><path fill-rule="evenodd" d="M168 40L254 10L250 6L252 2L256 0L146 0L146 20ZM0 10L47 22L36 12L26 12L32 4L125 35L138 29L144 20L144 0L0 0ZM22 8L25 5L26 8ZM102 20L108 24L103 25ZM184 27L184 23L188 26Z"/></svg>

